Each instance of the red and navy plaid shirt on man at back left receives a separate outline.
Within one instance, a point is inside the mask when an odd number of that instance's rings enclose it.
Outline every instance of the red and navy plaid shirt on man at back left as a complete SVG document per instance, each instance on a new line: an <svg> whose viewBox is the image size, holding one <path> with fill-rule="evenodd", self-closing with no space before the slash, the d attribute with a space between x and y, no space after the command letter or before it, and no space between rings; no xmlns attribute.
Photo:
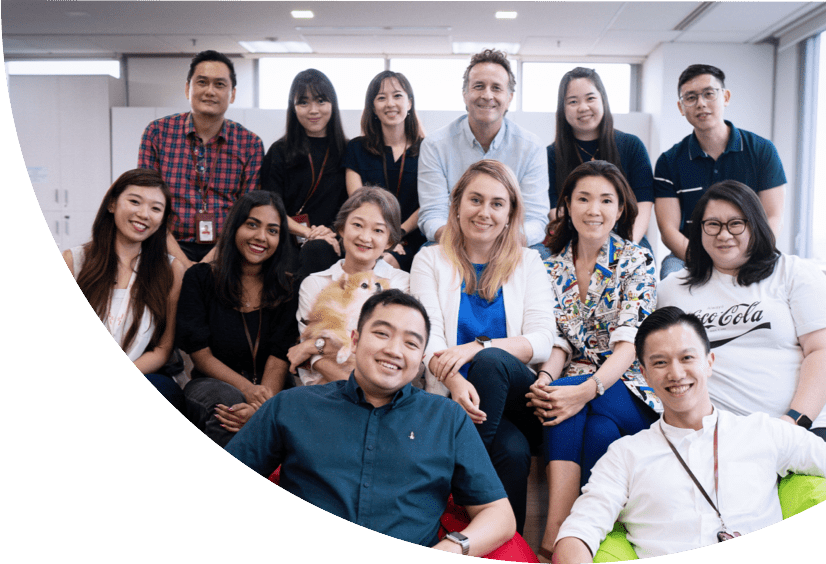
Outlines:
<svg viewBox="0 0 826 564"><path fill-rule="evenodd" d="M201 178L208 177L204 210L215 214L217 234L235 200L260 185L264 144L240 124L225 119L218 135L204 143L195 133L189 112L150 123L141 138L138 166L160 171L169 184L177 214L172 234L178 241L196 240L195 214L201 209L201 183L195 168L199 151L205 161Z"/></svg>

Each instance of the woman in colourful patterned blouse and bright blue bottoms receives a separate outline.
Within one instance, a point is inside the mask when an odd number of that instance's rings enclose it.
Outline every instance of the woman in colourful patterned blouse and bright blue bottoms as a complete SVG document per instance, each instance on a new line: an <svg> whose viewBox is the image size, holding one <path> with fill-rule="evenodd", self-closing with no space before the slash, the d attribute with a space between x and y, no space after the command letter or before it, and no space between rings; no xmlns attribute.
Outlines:
<svg viewBox="0 0 826 564"><path fill-rule="evenodd" d="M544 558L594 463L662 410L634 353L637 327L657 299L654 258L631 242L636 217L634 193L619 169L589 161L568 176L548 226L552 256L545 264L568 355L554 349L527 395L545 431Z"/></svg>

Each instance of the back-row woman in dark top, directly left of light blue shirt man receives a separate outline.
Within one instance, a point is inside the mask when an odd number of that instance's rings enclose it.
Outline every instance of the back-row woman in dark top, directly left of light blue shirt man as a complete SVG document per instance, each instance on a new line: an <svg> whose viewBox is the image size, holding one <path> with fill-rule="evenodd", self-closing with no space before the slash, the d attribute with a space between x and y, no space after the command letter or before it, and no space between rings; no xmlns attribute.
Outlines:
<svg viewBox="0 0 826 564"><path fill-rule="evenodd" d="M426 241L419 231L419 127L413 88L401 73L382 71L367 87L361 114L362 137L347 145L347 193L381 186L393 193L402 210L402 241L384 254L394 268L410 272L413 256Z"/></svg>

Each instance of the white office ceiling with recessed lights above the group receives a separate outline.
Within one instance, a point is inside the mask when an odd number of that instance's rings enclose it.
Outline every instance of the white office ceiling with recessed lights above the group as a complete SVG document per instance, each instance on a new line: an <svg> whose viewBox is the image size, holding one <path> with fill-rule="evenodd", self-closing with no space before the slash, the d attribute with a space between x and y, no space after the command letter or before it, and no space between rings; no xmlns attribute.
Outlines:
<svg viewBox="0 0 826 564"><path fill-rule="evenodd" d="M312 10L313 19L290 12ZM519 43L522 58L641 61L660 43L760 43L819 2L317 2L2 0L6 58L244 54L304 41L316 54L451 55L458 41ZM516 19L498 20L498 10Z"/></svg>

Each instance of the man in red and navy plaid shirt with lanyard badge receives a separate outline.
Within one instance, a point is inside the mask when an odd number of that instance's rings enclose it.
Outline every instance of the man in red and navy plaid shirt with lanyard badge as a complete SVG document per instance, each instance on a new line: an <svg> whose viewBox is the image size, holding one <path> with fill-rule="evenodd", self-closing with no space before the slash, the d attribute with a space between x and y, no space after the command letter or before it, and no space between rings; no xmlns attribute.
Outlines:
<svg viewBox="0 0 826 564"><path fill-rule="evenodd" d="M259 188L261 139L224 119L236 83L226 55L198 53L186 77L191 111L153 121L141 138L138 166L160 171L172 191L177 217L167 242L187 267L215 246L235 200Z"/></svg>

